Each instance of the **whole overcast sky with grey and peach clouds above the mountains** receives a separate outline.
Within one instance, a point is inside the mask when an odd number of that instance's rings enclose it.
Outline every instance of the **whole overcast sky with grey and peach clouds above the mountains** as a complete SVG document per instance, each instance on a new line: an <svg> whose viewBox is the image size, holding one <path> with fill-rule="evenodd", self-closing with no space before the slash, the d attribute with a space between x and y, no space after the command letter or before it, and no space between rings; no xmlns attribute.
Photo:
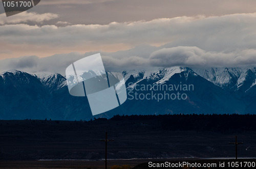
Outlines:
<svg viewBox="0 0 256 169"><path fill-rule="evenodd" d="M100 52L110 68L256 64L254 0L41 0L6 17L0 71L63 72Z"/></svg>

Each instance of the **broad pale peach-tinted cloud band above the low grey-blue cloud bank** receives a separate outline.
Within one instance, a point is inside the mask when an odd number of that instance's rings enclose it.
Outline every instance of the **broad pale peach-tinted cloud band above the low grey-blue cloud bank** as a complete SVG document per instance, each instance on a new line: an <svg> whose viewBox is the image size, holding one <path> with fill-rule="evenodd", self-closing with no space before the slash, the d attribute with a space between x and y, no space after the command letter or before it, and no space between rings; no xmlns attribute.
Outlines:
<svg viewBox="0 0 256 169"><path fill-rule="evenodd" d="M221 17L183 16L151 21L112 22L106 25L58 27L11 24L0 26L0 43L4 42L2 47L13 51L13 54L17 53L14 52L16 50L19 53L27 52L23 55L35 54L39 57L60 51L118 51L141 44L166 44L166 48L197 46L205 51L232 52L256 48L255 21L256 13ZM38 50L33 51L35 48Z"/></svg>

